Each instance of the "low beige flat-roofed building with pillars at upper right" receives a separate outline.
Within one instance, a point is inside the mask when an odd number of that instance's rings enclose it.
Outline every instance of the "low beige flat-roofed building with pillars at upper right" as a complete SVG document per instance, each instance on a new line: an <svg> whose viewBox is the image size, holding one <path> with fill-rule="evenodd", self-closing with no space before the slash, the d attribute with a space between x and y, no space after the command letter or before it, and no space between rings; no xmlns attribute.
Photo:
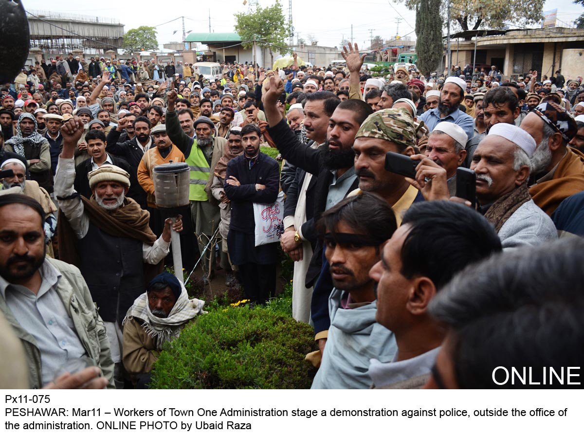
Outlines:
<svg viewBox="0 0 584 435"><path fill-rule="evenodd" d="M566 79L584 72L584 29L478 30L478 38L476 33L467 30L453 35L450 40L453 65L472 66L476 43L476 65L489 69L496 65L505 78L516 78L530 69L536 69L540 77L549 77L561 69ZM489 36L482 36L485 33ZM445 59L444 65L446 62Z"/></svg>

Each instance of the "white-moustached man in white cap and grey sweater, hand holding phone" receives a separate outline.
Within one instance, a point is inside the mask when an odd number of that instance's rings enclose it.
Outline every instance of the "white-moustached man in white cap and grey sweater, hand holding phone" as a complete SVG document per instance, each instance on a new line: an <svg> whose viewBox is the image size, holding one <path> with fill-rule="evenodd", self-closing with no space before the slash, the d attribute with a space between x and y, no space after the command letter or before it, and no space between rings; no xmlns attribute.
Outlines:
<svg viewBox="0 0 584 435"><path fill-rule="evenodd" d="M503 249L557 239L554 223L527 189L536 141L524 133L513 124L495 124L472 156L477 210L495 227ZM421 162L412 185L419 187L426 200L447 200L446 170L421 155L413 158Z"/></svg>

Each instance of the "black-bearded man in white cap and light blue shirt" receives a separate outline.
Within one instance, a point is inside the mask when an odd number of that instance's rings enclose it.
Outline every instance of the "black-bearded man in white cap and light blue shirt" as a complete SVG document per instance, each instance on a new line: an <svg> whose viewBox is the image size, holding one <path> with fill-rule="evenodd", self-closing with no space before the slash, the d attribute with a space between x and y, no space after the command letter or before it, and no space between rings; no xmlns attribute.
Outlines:
<svg viewBox="0 0 584 435"><path fill-rule="evenodd" d="M442 121L457 124L463 128L464 133L471 139L474 136L474 119L458 109L460 103L463 102L466 89L467 83L463 79L458 77L447 78L440 93L438 107L422 113L418 120L424 121L430 132L434 130L436 124Z"/></svg>

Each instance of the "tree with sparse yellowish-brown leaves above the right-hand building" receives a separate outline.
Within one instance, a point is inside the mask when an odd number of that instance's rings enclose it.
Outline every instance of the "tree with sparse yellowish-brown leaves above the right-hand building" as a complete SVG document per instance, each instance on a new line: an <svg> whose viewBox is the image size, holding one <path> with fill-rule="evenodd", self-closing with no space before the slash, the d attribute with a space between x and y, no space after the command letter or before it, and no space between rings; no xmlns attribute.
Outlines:
<svg viewBox="0 0 584 435"><path fill-rule="evenodd" d="M419 5L419 0L399 0L412 11ZM513 22L518 26L539 23L543 19L541 13L544 0L451 0L450 19L453 24L460 25L463 30L477 30L479 26L500 29ZM446 18L446 1L439 8Z"/></svg>

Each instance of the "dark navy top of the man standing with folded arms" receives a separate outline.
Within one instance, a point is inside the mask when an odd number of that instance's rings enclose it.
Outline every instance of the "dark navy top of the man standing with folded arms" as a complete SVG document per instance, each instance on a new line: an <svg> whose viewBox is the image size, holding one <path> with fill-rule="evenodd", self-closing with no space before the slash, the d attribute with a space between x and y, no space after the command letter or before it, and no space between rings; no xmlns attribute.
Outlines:
<svg viewBox="0 0 584 435"><path fill-rule="evenodd" d="M227 163L225 179L234 176L241 186L225 183L225 194L231 200L231 222L229 228L245 234L254 234L253 203L272 204L278 197L280 187L279 163L263 154L249 169L249 160L245 155L238 155ZM257 190L255 185L265 185L266 189Z"/></svg>

